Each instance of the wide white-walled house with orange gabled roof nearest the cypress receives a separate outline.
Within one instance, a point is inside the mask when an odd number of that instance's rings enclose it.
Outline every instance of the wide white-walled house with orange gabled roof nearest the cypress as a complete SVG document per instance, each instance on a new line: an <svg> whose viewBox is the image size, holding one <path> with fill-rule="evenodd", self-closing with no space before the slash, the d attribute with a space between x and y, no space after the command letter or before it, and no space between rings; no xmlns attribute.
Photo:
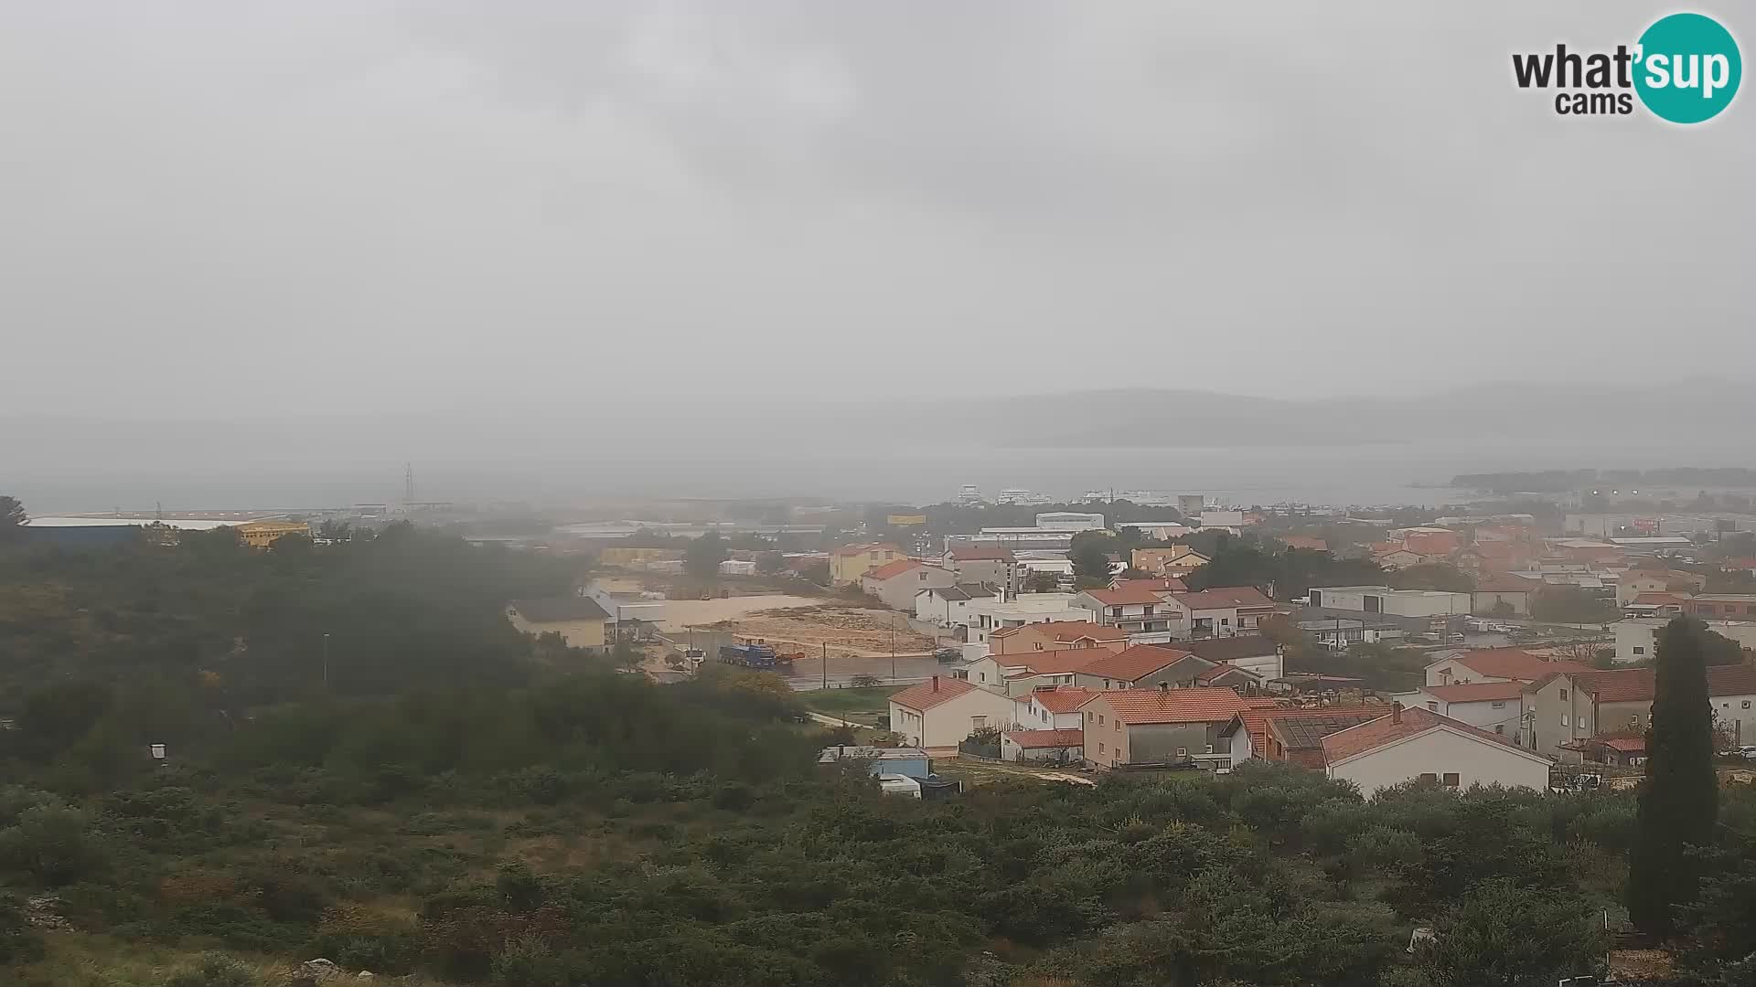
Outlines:
<svg viewBox="0 0 1756 987"><path fill-rule="evenodd" d="M1549 789L1547 757L1461 720L1400 704L1377 720L1322 738L1324 773L1354 782L1368 799L1403 782L1447 789Z"/></svg>

